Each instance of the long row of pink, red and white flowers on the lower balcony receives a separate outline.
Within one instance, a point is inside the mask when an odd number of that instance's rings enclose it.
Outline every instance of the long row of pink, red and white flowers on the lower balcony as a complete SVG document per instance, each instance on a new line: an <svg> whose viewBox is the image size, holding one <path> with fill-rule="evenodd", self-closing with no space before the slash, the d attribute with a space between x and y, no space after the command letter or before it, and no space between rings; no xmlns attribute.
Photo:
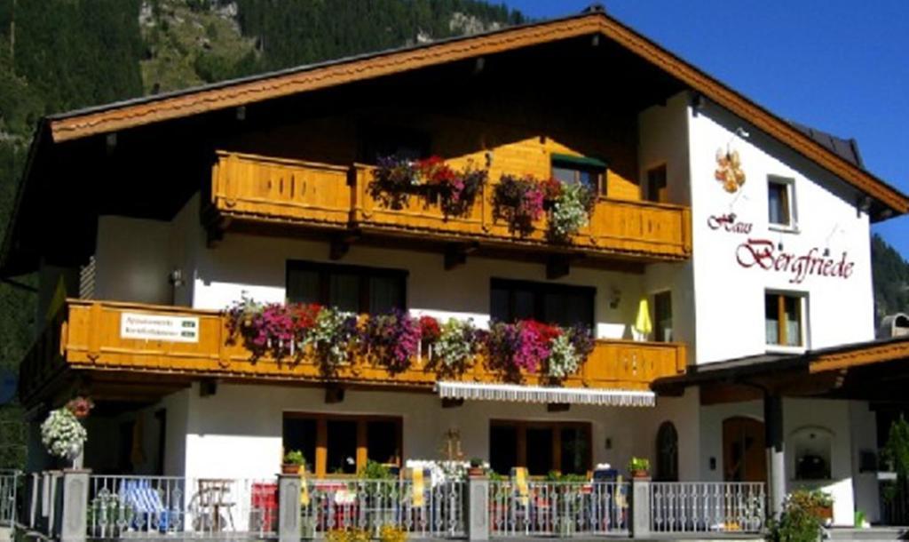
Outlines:
<svg viewBox="0 0 909 542"><path fill-rule="evenodd" d="M246 296L229 306L225 316L232 340L241 337L254 359L269 355L298 361L313 356L325 375L334 373L355 351L398 374L411 366L422 344L432 345L435 359L429 367L440 375L460 376L477 355L485 354L490 368L511 381L536 373L555 384L574 374L594 349L594 338L584 327L535 320L495 322L485 331L469 320L450 319L441 325L434 317L394 309L358 321L354 314L333 307L261 304Z"/></svg>

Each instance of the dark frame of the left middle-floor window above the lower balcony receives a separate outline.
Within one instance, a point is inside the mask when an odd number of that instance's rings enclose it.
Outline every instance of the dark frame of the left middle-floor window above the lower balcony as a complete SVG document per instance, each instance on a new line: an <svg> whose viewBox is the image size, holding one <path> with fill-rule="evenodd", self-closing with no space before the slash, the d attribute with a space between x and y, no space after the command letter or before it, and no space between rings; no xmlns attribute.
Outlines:
<svg viewBox="0 0 909 542"><path fill-rule="evenodd" d="M347 264L326 264L309 260L287 260L285 266L285 301L291 303L290 278L295 271L315 271L319 274L319 300L320 305L330 305L331 300L331 274L355 275L358 278L358 310L361 314L369 313L369 279L380 277L396 278L400 281L401 298L399 308L407 307L407 277L410 272L406 269L392 267L352 266Z"/></svg>

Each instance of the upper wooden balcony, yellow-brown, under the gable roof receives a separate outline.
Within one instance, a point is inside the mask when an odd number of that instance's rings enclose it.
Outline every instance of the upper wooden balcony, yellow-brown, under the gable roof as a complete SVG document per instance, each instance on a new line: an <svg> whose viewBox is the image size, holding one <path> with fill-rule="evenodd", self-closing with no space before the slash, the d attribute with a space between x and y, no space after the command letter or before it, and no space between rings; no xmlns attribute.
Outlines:
<svg viewBox="0 0 909 542"><path fill-rule="evenodd" d="M411 197L402 209L383 206L367 189L372 170L219 152L212 205L222 222L275 222L643 261L683 260L691 254L691 215L684 206L600 198L589 226L568 243L553 243L545 236L545 218L529 236L512 234L503 220L494 218L492 184L498 176L490 176L467 216L454 217L419 197Z"/></svg>

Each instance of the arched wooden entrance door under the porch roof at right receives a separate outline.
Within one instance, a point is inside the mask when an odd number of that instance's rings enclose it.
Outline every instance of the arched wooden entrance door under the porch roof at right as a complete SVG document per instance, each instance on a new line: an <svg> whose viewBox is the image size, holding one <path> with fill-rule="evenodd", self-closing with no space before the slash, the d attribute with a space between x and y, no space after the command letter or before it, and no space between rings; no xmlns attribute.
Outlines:
<svg viewBox="0 0 909 542"><path fill-rule="evenodd" d="M723 421L723 479L727 482L766 482L764 423L750 417Z"/></svg>

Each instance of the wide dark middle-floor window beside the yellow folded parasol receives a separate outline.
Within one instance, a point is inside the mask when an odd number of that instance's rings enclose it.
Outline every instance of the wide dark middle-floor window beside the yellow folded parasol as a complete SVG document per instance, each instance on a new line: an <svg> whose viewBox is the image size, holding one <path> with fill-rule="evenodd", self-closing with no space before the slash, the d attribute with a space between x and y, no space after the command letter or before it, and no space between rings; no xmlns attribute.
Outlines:
<svg viewBox="0 0 909 542"><path fill-rule="evenodd" d="M594 328L594 287L494 278L490 289L493 320L534 319L559 326Z"/></svg>

